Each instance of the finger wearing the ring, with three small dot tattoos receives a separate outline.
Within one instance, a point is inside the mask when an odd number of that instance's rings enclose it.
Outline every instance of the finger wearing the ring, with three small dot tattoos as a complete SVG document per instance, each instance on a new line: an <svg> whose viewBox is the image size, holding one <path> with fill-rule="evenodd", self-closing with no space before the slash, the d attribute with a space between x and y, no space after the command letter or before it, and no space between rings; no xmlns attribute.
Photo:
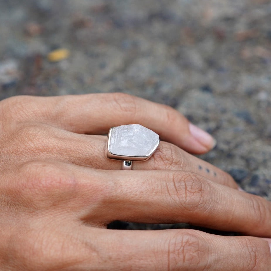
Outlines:
<svg viewBox="0 0 271 271"><path fill-rule="evenodd" d="M90 157L94 158L92 161L85 161L91 163L91 167L98 169L113 169L120 170L122 168L121 161L114 161L104 156L103 152L106 145L106 137L96 137L94 140L95 148L92 149ZM81 156L82 158L82 156ZM75 161L74 161L75 162ZM144 162L133 162L134 170L182 170L200 174L209 180L220 183L231 188L238 189L237 183L233 180L231 175L223 170L213 166L212 164L203 161L179 147L168 143L160 142L158 149Z"/></svg>

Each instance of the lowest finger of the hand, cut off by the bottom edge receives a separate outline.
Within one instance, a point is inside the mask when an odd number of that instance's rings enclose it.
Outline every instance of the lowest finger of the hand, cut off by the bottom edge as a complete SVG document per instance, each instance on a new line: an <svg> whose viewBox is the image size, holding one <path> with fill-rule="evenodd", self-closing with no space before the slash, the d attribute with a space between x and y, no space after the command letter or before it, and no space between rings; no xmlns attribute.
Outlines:
<svg viewBox="0 0 271 271"><path fill-rule="evenodd" d="M187 229L81 228L79 240L87 251L80 261L82 270L92 266L94 270L270 271L270 248L256 237L215 236ZM93 250L103 256L88 256Z"/></svg>

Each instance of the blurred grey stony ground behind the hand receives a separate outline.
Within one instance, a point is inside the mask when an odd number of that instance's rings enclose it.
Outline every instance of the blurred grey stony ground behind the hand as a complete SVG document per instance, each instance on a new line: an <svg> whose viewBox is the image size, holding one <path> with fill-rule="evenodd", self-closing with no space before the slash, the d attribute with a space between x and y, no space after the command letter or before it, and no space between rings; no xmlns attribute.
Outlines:
<svg viewBox="0 0 271 271"><path fill-rule="evenodd" d="M271 200L271 1L0 0L0 99L115 91L182 112Z"/></svg>

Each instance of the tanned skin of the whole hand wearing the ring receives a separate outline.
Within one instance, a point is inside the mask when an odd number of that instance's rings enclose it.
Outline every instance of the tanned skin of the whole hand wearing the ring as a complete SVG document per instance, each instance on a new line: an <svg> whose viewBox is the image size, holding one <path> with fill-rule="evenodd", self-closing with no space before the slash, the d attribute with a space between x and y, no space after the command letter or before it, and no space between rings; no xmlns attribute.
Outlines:
<svg viewBox="0 0 271 271"><path fill-rule="evenodd" d="M271 203L188 154L212 144L195 140L172 108L111 93L17 96L1 101L0 113L1 270L271 270ZM132 123L164 141L122 171L105 158L103 134ZM114 220L243 236L107 229Z"/></svg>

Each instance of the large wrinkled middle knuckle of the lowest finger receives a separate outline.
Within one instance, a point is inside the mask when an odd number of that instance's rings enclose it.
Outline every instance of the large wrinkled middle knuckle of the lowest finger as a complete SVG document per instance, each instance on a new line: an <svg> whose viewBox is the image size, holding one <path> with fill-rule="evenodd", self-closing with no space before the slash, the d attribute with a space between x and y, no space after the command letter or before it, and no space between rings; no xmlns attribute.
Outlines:
<svg viewBox="0 0 271 271"><path fill-rule="evenodd" d="M177 233L168 242L168 269L206 270L208 263L206 241L190 231L189 234Z"/></svg>

